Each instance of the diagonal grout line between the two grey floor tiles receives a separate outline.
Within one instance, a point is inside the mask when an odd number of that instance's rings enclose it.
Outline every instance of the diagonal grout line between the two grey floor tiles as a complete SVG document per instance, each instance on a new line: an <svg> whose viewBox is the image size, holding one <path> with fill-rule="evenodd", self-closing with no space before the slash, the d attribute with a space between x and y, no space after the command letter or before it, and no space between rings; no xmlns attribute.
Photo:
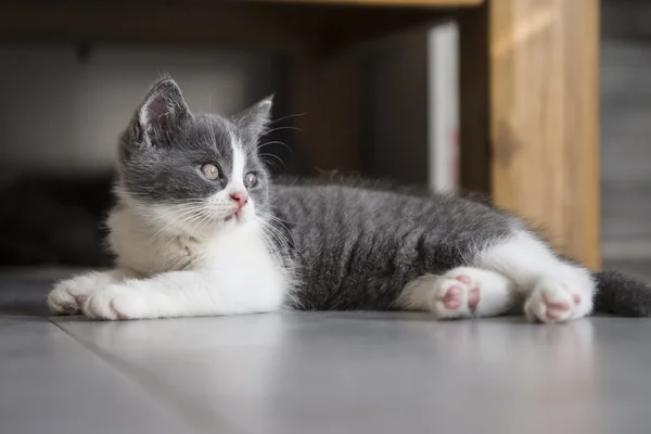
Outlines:
<svg viewBox="0 0 651 434"><path fill-rule="evenodd" d="M102 349L90 341L76 336L62 327L58 321L53 321L50 317L48 317L48 320L62 330L65 334L77 341L86 349L99 356L102 360L126 375L129 380L140 385L142 388L149 392L154 399L159 399L166 406L171 407L173 410L178 411L180 417L195 433L214 434L219 432L220 434L250 434L232 425L224 417L218 419L214 410L196 403L193 398L187 396L175 387L165 384L165 382L159 381L150 372Z"/></svg>

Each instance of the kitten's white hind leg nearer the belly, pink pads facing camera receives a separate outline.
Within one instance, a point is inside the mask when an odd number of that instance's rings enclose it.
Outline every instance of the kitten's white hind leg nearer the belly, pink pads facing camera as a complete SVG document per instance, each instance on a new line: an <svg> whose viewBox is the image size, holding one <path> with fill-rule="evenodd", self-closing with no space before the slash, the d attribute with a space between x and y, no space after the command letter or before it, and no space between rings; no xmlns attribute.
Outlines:
<svg viewBox="0 0 651 434"><path fill-rule="evenodd" d="M430 310L438 319L495 317L519 301L514 283L495 271L458 267L442 276L422 276L398 298L401 308Z"/></svg>

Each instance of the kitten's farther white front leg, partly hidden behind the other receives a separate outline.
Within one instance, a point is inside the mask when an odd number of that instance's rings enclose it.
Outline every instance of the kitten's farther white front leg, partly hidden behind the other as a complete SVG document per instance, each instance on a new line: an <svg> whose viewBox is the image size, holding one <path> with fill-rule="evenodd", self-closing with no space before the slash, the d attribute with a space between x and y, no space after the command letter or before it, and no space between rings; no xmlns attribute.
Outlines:
<svg viewBox="0 0 651 434"><path fill-rule="evenodd" d="M108 284L117 283L130 272L123 269L110 271L92 271L63 280L54 285L48 294L48 306L54 315L75 315L81 309L81 305L88 295Z"/></svg>

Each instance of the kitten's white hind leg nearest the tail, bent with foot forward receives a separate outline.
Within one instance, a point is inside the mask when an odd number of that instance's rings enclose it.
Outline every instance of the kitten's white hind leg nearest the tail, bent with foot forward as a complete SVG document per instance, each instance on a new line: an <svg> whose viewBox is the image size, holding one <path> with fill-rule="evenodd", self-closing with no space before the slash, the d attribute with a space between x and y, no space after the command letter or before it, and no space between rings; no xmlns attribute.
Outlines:
<svg viewBox="0 0 651 434"><path fill-rule="evenodd" d="M592 310L596 285L590 271L561 259L527 231L518 230L480 252L474 265L514 281L531 320L562 322Z"/></svg>

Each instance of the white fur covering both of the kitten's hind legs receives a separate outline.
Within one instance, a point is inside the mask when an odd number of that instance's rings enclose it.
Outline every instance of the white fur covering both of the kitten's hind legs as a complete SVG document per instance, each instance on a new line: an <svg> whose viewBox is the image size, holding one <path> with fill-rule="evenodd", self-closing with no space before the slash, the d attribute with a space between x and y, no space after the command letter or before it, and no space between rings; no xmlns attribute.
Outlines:
<svg viewBox="0 0 651 434"><path fill-rule="evenodd" d="M465 276L468 283L460 281L460 276ZM452 288L457 288L454 296L449 293ZM469 308L473 289L480 295L474 311ZM496 316L521 298L531 320L563 322L590 314L595 289L588 270L558 258L532 233L518 229L506 241L480 250L472 267L408 283L398 305L448 319ZM459 303L449 303L451 298Z"/></svg>

